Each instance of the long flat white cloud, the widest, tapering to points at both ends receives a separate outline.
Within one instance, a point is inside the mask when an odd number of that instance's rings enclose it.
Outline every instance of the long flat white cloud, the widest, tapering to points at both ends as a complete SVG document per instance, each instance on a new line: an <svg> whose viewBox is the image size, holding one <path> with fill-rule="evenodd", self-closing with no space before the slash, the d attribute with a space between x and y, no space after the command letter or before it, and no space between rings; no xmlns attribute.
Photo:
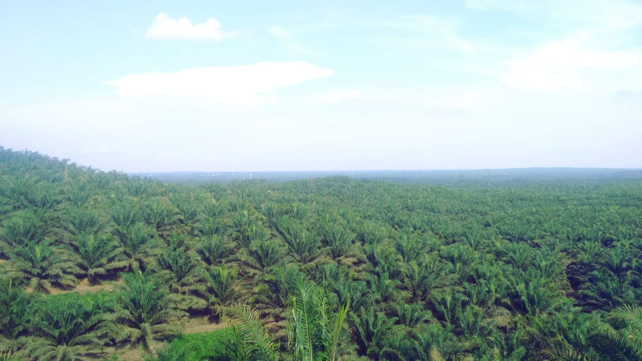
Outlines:
<svg viewBox="0 0 642 361"><path fill-rule="evenodd" d="M105 82L133 98L203 98L213 103L247 104L282 87L332 75L306 62L261 62L247 66L197 67L175 73L126 75Z"/></svg>

